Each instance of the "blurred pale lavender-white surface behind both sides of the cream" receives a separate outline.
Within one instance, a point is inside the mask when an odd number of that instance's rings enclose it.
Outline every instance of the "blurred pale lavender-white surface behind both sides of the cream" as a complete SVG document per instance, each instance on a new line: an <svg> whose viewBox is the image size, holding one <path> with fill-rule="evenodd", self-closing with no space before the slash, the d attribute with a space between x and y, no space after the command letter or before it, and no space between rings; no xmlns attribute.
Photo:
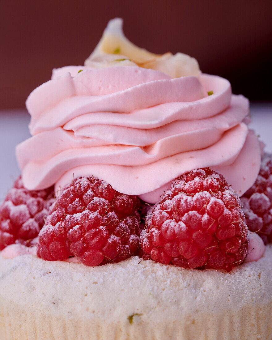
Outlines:
<svg viewBox="0 0 272 340"><path fill-rule="evenodd" d="M272 152L272 103L252 104L251 118L251 128L266 143L266 151ZM26 110L0 111L0 201L20 174L14 148L30 137L29 120Z"/></svg>

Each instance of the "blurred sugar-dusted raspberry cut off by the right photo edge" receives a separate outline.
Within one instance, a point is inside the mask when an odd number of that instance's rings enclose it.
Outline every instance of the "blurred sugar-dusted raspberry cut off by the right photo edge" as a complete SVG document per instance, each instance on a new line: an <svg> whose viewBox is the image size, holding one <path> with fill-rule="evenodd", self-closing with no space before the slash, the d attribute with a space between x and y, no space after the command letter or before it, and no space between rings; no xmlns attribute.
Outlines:
<svg viewBox="0 0 272 340"><path fill-rule="evenodd" d="M253 186L241 198L245 222L265 244L272 242L272 155L265 154Z"/></svg>

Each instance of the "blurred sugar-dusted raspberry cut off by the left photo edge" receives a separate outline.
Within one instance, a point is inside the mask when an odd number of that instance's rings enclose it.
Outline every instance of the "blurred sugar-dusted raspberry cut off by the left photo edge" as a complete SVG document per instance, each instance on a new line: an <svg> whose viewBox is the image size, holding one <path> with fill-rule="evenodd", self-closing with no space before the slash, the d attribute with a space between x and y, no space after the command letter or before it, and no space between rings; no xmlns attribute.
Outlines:
<svg viewBox="0 0 272 340"><path fill-rule="evenodd" d="M15 242L32 245L54 201L53 187L29 191L20 176L0 206L0 250Z"/></svg>

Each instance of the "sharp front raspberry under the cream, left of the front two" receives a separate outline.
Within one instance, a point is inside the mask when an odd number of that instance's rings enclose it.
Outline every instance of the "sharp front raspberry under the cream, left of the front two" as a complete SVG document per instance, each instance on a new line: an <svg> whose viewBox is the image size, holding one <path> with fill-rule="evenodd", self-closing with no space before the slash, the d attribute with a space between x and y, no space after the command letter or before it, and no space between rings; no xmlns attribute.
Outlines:
<svg viewBox="0 0 272 340"><path fill-rule="evenodd" d="M38 256L86 266L119 262L139 249L139 200L95 177L66 186L39 233Z"/></svg>

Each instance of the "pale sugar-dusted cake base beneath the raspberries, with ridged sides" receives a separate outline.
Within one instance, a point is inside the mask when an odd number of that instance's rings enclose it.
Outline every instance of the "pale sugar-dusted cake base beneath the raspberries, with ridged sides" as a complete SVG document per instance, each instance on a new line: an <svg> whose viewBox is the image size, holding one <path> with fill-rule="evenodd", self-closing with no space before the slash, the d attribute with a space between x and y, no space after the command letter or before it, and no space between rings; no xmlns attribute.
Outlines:
<svg viewBox="0 0 272 340"><path fill-rule="evenodd" d="M1 339L270 340L272 245L226 273L0 256Z"/></svg>

